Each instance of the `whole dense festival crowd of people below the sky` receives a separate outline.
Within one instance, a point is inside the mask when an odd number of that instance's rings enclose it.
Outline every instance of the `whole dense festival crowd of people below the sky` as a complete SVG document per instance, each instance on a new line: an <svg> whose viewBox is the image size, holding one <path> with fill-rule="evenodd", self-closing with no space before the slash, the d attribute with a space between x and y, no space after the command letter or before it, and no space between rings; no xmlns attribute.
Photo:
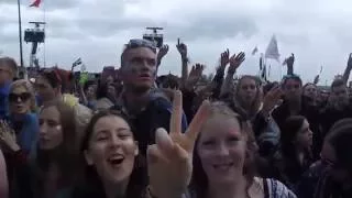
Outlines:
<svg viewBox="0 0 352 198"><path fill-rule="evenodd" d="M57 67L18 79L1 57L0 197L352 197L352 55L322 90L294 56L267 81L227 50L207 81L176 47L180 77L157 75L168 46L146 40L125 44L118 75L82 82Z"/></svg>

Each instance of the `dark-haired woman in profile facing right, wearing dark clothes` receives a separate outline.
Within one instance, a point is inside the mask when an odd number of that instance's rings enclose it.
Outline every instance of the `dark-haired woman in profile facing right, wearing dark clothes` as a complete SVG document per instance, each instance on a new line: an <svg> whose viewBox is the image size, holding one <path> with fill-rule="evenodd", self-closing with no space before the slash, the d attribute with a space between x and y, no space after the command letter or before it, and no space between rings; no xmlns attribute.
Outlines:
<svg viewBox="0 0 352 198"><path fill-rule="evenodd" d="M280 135L280 151L274 156L275 177L295 188L301 175L312 164L312 132L305 117L294 116L286 120Z"/></svg>

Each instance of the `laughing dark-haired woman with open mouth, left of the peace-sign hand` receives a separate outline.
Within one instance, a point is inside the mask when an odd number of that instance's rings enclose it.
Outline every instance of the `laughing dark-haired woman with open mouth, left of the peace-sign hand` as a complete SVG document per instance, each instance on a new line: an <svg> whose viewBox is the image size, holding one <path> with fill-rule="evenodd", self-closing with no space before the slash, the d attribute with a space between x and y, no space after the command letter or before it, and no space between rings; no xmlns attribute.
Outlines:
<svg viewBox="0 0 352 198"><path fill-rule="evenodd" d="M114 111L99 112L85 135L81 155L87 164L86 179L72 197L144 197L145 166L140 166L139 146L125 117Z"/></svg>

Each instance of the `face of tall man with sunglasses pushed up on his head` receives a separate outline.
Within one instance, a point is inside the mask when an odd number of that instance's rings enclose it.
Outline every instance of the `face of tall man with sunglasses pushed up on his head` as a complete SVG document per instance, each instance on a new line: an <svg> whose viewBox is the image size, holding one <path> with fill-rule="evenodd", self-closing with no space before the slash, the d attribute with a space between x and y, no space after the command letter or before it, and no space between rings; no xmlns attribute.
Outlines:
<svg viewBox="0 0 352 198"><path fill-rule="evenodd" d="M124 85L147 90L155 81L156 54L147 47L128 50L121 70Z"/></svg>

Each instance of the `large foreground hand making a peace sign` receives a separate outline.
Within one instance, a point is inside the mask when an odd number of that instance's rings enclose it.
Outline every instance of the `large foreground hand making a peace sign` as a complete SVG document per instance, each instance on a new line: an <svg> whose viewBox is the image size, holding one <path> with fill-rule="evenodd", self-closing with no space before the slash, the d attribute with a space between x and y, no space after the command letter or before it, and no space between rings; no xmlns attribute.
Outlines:
<svg viewBox="0 0 352 198"><path fill-rule="evenodd" d="M182 92L175 91L169 134L156 131L156 144L147 148L151 194L158 198L182 197L193 172L193 151L204 121L209 116L209 101L204 101L186 133L182 133Z"/></svg>

